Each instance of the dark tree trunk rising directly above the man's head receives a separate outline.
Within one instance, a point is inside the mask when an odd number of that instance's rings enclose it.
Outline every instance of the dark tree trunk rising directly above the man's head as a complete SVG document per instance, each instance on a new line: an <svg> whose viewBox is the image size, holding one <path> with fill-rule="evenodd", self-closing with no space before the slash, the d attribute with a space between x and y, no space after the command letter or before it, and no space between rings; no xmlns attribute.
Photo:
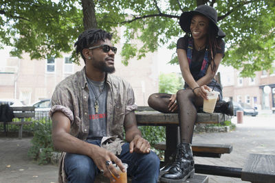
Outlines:
<svg viewBox="0 0 275 183"><path fill-rule="evenodd" d="M81 0L81 3L83 8L84 29L87 30L98 27L94 0Z"/></svg>

